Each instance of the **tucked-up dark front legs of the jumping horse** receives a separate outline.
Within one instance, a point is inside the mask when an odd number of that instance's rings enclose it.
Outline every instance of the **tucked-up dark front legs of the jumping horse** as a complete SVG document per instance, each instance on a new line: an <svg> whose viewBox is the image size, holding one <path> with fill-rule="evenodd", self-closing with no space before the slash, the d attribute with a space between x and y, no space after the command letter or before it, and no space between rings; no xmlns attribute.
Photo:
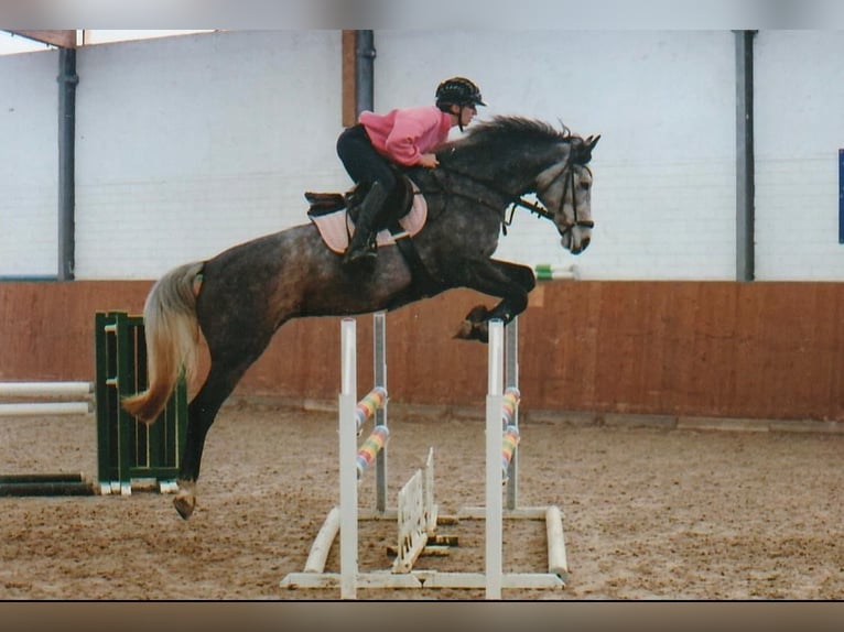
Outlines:
<svg viewBox="0 0 844 632"><path fill-rule="evenodd" d="M500 319L506 325L524 312L528 293L537 286L537 279L527 265L494 259L465 262L462 270L462 285L500 296L501 301L491 309L484 305L473 307L454 337L487 342L489 322Z"/></svg>

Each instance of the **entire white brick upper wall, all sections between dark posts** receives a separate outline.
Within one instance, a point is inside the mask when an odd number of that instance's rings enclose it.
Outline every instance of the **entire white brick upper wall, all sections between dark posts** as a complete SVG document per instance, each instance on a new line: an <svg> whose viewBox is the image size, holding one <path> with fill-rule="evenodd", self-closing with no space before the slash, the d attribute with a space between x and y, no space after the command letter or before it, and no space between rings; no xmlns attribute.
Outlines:
<svg viewBox="0 0 844 632"><path fill-rule="evenodd" d="M481 118L600 133L589 249L519 210L498 254L582 279L735 277L729 31L376 31L376 109L467 75ZM840 280L844 33L756 37L756 272ZM77 53L76 275L151 279L306 221L305 189L350 184L335 153L339 31L216 33ZM0 57L0 277L57 261L55 52Z"/></svg>

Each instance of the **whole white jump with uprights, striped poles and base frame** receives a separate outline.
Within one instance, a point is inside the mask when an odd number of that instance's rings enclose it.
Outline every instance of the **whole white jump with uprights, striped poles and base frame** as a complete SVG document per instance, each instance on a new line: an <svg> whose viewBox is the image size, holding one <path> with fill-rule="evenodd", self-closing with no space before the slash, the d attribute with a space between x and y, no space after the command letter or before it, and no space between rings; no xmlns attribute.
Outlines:
<svg viewBox="0 0 844 632"><path fill-rule="evenodd" d="M563 588L567 576L562 512L558 506L518 508L518 329L513 322L505 327L494 320L489 327L489 382L486 405L486 506L463 508L454 516L443 516L451 524L461 520L485 520L486 547L484 571L453 573L414 569L416 558L431 545L446 542L437 536L437 508L434 503L433 448L423 470L416 470L399 492L398 505L388 510L386 497L387 377L385 314L375 315L375 388L356 401L355 320L342 324L342 389L339 394L339 506L333 508L314 540L303 573L291 573L281 581L283 588L339 588L343 599L357 598L358 588L486 588L487 599L500 599L502 588ZM507 367L504 368L505 346ZM504 382L507 382L506 390ZM372 434L360 449L357 435L363 423L375 416ZM357 453L356 453L357 450ZM378 469L375 511L358 510L358 484L368 465ZM507 487L505 509L502 482ZM398 523L397 557L390 569L361 573L358 569L358 521L394 519ZM502 569L502 520L529 519L547 523L548 571L505 573ZM339 532L339 573L326 573L332 543ZM442 548L442 547L441 547Z"/></svg>

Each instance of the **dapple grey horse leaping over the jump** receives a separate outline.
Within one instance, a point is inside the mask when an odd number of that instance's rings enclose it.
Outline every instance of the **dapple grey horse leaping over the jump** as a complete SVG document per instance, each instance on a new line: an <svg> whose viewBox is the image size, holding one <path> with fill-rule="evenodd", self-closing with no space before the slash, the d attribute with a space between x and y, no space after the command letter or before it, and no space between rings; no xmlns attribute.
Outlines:
<svg viewBox="0 0 844 632"><path fill-rule="evenodd" d="M592 171L599 135L522 117L480 121L436 150L439 166L411 167L428 205L412 257L378 249L368 265L342 263L313 222L236 244L205 261L178 265L151 287L143 307L148 389L123 399L138 419L154 421L180 374L194 373L199 334L207 375L187 408L187 432L173 500L187 520L196 505L206 435L223 403L273 334L292 318L350 316L397 309L454 287L500 301L467 314L455 338L488 339L491 319L510 322L535 286L531 268L493 259L516 207L551 220L574 254L589 243ZM534 194L532 201L526 195Z"/></svg>

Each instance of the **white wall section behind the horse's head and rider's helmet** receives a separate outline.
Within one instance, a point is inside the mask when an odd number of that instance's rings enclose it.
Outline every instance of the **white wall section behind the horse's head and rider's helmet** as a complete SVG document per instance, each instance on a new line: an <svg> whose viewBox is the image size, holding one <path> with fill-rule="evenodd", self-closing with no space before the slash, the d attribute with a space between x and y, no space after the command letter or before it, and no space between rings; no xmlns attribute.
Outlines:
<svg viewBox="0 0 844 632"><path fill-rule="evenodd" d="M589 249L569 254L551 225L519 211L498 255L574 263L582 279L734 277L731 32L377 32L376 47L381 109L425 101L440 79L465 74L489 103L480 118L562 119L603 134Z"/></svg>

